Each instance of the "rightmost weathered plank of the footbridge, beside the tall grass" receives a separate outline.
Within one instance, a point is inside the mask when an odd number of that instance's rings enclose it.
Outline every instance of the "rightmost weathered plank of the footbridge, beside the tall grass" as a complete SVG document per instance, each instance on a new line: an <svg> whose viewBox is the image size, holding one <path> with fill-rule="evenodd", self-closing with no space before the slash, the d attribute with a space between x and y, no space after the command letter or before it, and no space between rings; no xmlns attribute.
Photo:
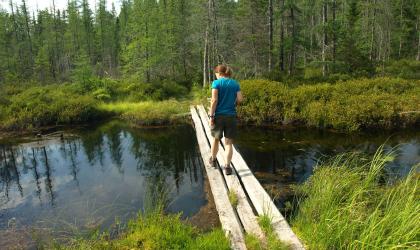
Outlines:
<svg viewBox="0 0 420 250"><path fill-rule="evenodd" d="M200 109L204 109L204 107L200 107ZM222 143L224 143L224 139L222 140ZM233 146L232 165L234 166L240 180L244 184L245 191L258 215L269 216L271 218L273 229L279 239L289 244L292 249L305 249L299 238L290 228L286 219L272 201L271 197L261 186L257 178L255 178L254 174L236 150L235 146Z"/></svg>

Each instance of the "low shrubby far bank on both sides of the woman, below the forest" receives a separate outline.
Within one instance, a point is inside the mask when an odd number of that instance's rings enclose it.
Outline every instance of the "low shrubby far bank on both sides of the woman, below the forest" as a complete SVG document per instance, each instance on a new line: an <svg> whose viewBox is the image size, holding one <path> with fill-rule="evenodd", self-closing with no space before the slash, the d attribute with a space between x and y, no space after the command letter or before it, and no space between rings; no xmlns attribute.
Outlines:
<svg viewBox="0 0 420 250"><path fill-rule="evenodd" d="M420 123L420 80L373 78L299 84L244 80L239 108L245 123L300 124L356 131L404 128ZM135 125L180 121L191 103L209 93L171 81L131 83L91 79L83 83L0 86L0 130L28 130L120 116Z"/></svg>

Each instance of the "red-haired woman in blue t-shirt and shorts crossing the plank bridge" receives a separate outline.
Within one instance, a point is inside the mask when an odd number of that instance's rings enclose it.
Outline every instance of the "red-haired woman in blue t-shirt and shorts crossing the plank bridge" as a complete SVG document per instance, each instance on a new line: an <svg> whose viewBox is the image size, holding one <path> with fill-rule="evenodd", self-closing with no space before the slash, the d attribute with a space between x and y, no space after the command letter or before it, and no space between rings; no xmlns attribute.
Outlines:
<svg viewBox="0 0 420 250"><path fill-rule="evenodd" d="M236 106L243 101L239 83L231 78L232 70L226 65L214 68L216 80L211 85L210 127L213 141L209 163L216 167L219 142L225 137L226 158L222 166L227 175L232 174L230 166L233 153L233 140L237 133Z"/></svg>

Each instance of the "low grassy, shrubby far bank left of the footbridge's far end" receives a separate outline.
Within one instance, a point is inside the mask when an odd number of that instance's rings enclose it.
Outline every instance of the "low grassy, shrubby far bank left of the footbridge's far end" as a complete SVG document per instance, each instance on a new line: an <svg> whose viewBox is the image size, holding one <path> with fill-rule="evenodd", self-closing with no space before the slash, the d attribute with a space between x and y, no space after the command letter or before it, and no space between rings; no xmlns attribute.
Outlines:
<svg viewBox="0 0 420 250"><path fill-rule="evenodd" d="M174 82L0 85L0 131L81 124L120 116L135 125L182 121L193 96Z"/></svg>

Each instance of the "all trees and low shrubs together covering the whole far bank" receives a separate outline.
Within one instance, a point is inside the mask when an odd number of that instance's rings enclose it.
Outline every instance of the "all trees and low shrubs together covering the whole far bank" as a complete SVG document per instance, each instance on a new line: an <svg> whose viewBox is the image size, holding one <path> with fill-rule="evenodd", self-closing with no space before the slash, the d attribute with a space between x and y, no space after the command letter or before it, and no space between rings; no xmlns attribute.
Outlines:
<svg viewBox="0 0 420 250"><path fill-rule="evenodd" d="M418 1L107 6L70 0L58 9L51 1L32 11L26 0L10 0L0 10L1 131L111 116L136 125L185 121L189 104L209 95L220 63L247 80L244 123L355 131L420 121Z"/></svg>

